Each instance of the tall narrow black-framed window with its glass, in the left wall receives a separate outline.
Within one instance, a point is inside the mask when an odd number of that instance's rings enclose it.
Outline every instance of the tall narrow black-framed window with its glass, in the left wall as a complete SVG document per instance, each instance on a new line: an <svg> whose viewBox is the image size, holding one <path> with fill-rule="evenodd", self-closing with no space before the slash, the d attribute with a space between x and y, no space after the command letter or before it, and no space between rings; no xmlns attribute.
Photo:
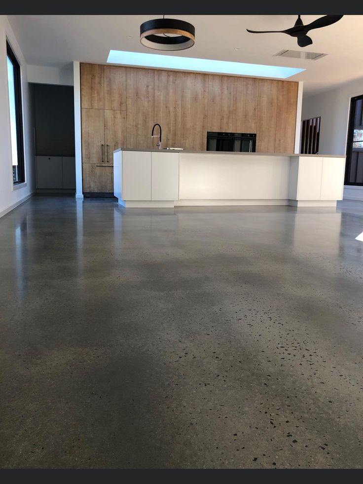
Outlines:
<svg viewBox="0 0 363 484"><path fill-rule="evenodd" d="M9 90L11 158L14 185L25 182L23 112L21 104L20 64L6 41L7 84Z"/></svg>

